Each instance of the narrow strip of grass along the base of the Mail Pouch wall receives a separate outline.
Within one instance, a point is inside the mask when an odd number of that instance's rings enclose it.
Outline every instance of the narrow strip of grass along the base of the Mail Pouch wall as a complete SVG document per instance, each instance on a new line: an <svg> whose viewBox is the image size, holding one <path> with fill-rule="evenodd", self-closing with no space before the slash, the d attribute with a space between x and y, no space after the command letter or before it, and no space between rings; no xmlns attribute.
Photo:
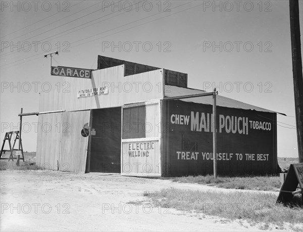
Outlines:
<svg viewBox="0 0 303 232"><path fill-rule="evenodd" d="M244 190L261 190L261 191L279 191L280 179L276 175L267 176L219 176L214 178L213 175L198 175L173 178L173 182L199 183L218 186L225 189L244 189Z"/></svg>

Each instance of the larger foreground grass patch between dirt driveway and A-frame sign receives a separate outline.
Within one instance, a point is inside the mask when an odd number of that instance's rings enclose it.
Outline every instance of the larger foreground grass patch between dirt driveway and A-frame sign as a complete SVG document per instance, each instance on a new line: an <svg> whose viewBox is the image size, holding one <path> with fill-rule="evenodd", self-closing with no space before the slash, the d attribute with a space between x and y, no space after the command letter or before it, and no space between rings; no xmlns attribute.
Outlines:
<svg viewBox="0 0 303 232"><path fill-rule="evenodd" d="M300 197L293 207L276 204L277 196L270 193L221 193L162 189L156 192L144 192L155 207L174 208L182 211L216 215L227 219L246 219L250 224L268 223L283 228L285 222L292 229L303 229L303 207ZM200 216L199 216L200 217ZM302 224L298 224L302 223ZM264 227L266 229L266 226Z"/></svg>

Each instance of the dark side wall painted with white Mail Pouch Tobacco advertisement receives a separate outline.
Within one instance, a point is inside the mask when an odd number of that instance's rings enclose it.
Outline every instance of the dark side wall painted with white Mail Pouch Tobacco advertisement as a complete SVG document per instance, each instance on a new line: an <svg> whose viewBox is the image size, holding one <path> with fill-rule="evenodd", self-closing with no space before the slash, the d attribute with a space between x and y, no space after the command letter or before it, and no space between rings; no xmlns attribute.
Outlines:
<svg viewBox="0 0 303 232"><path fill-rule="evenodd" d="M170 101L163 114L164 175L213 174L212 106ZM276 114L217 107L218 174L277 169Z"/></svg>

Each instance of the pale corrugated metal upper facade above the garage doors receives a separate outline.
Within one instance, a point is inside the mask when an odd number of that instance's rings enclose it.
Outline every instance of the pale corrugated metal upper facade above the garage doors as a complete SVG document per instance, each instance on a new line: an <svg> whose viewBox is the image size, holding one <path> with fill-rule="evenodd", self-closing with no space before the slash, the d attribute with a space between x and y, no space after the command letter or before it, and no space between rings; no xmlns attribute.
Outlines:
<svg viewBox="0 0 303 232"><path fill-rule="evenodd" d="M163 98L163 69L124 76L124 65L95 70L92 78L64 77L65 89L40 93L39 112L89 110ZM69 87L67 87L69 85ZM108 87L105 95L78 98L78 91Z"/></svg>

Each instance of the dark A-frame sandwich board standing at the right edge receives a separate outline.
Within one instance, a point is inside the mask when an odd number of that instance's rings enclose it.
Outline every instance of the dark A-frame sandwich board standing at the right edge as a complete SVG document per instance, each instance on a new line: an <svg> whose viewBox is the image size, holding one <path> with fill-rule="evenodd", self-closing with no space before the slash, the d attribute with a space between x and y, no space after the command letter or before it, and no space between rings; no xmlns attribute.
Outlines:
<svg viewBox="0 0 303 232"><path fill-rule="evenodd" d="M299 185L299 191L296 191ZM286 178L280 190L277 202L289 203L293 199L293 195L297 193L303 194L303 163L290 164Z"/></svg>

